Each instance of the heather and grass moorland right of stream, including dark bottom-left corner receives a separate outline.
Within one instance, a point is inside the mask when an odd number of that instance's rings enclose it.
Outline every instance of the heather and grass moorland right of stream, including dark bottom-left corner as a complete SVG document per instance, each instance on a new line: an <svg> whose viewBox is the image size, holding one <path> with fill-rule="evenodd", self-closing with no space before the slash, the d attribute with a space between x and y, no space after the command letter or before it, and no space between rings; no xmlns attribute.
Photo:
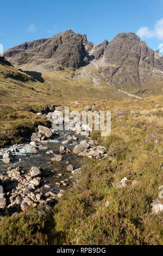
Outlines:
<svg viewBox="0 0 163 256"><path fill-rule="evenodd" d="M163 184L162 102L162 96L97 101L95 109L111 111L112 130L109 137L92 132L92 138L105 145L113 160L89 160L76 176L77 186L64 193L51 214L38 217L31 209L5 218L0 243L162 245L163 216L151 214ZM83 106L84 101L72 109ZM127 113L116 115L118 108ZM117 187L124 177L127 186Z"/></svg>

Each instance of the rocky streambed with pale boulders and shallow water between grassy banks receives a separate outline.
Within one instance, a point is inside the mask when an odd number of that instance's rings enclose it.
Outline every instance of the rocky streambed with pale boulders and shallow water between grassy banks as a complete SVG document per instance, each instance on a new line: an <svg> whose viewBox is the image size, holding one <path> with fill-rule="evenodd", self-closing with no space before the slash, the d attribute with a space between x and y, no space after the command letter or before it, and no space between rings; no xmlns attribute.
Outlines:
<svg viewBox="0 0 163 256"><path fill-rule="evenodd" d="M38 114L59 123L58 110ZM64 191L76 184L75 174L85 159L106 156L105 148L90 138L89 127L70 120L70 128L56 132L38 126L28 144L0 149L0 221L29 206L51 210Z"/></svg>

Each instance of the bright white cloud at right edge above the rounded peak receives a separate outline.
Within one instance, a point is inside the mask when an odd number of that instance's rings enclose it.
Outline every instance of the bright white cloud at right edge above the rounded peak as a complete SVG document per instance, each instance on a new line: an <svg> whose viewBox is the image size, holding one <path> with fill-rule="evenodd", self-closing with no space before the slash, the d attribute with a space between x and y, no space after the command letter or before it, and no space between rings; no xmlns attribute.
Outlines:
<svg viewBox="0 0 163 256"><path fill-rule="evenodd" d="M148 27L141 27L136 33L140 38L158 38L163 39L163 18L156 21L154 29L151 30Z"/></svg>

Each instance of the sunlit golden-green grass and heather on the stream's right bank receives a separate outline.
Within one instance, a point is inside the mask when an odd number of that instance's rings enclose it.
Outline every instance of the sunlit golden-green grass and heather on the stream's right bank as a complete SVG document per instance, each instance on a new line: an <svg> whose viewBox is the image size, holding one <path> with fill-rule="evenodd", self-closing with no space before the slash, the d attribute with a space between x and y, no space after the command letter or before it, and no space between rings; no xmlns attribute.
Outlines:
<svg viewBox="0 0 163 256"><path fill-rule="evenodd" d="M163 184L162 125L153 115L113 114L111 136L92 132L114 160L89 161L78 186L55 208L55 228L65 232L65 244L162 245L162 215L151 215L151 202ZM124 177L127 187L116 187Z"/></svg>

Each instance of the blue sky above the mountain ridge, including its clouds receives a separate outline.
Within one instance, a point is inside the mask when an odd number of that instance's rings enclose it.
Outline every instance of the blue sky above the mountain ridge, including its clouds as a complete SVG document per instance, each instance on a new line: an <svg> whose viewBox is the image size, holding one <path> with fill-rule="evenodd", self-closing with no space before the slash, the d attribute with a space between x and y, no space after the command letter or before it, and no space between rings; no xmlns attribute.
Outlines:
<svg viewBox="0 0 163 256"><path fill-rule="evenodd" d="M6 0L0 20L4 50L70 28L94 44L121 32L138 33L153 50L163 44L163 0Z"/></svg>

